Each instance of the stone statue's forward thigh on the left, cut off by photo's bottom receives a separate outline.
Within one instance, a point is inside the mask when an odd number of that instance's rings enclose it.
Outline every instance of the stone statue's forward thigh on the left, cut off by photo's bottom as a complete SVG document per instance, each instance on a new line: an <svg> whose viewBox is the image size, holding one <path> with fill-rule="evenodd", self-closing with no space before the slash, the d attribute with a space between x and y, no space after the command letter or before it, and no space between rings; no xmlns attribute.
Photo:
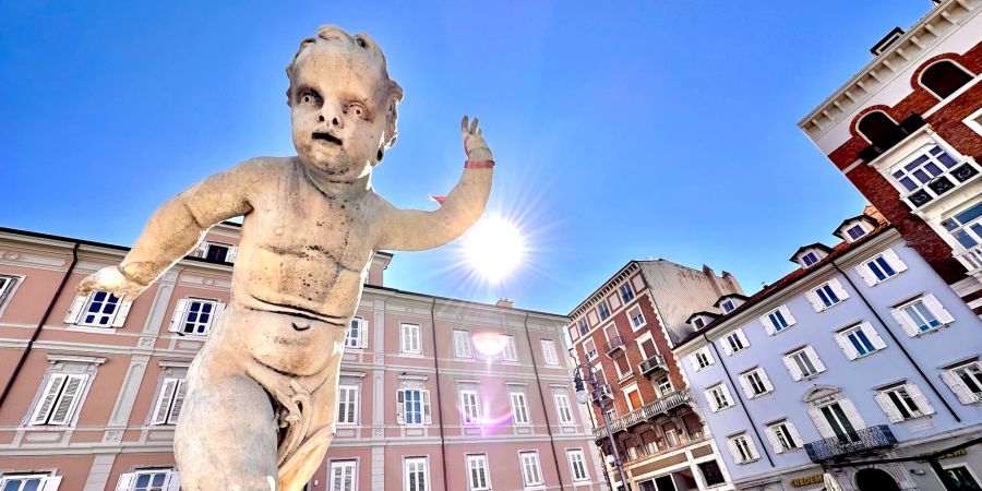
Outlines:
<svg viewBox="0 0 982 491"><path fill-rule="evenodd" d="M273 405L254 380L229 373L232 363L197 359L188 373L175 432L184 491L277 489Z"/></svg>

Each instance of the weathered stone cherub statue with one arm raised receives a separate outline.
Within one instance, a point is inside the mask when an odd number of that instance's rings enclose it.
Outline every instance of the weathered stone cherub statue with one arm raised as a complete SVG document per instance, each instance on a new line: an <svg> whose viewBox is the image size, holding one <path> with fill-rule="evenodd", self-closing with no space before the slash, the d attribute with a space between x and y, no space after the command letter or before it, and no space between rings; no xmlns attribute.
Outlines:
<svg viewBox="0 0 982 491"><path fill-rule="evenodd" d="M135 298L208 227L244 216L229 308L188 373L175 435L184 490L302 488L335 434L345 334L372 255L450 242L491 190L491 152L465 116L464 175L438 211L375 194L403 89L369 36L321 27L287 75L297 156L253 158L180 193L119 266L79 287Z"/></svg>

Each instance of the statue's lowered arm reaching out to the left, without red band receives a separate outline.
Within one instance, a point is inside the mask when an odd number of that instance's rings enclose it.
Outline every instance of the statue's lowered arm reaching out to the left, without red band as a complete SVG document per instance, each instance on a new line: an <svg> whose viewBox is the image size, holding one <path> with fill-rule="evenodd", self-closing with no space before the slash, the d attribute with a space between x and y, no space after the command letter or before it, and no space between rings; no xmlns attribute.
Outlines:
<svg viewBox="0 0 982 491"><path fill-rule="evenodd" d="M248 160L211 176L164 203L118 266L89 275L79 285L93 290L136 298L173 263L191 252L205 231L224 219L252 209L248 196L260 180L261 164Z"/></svg>

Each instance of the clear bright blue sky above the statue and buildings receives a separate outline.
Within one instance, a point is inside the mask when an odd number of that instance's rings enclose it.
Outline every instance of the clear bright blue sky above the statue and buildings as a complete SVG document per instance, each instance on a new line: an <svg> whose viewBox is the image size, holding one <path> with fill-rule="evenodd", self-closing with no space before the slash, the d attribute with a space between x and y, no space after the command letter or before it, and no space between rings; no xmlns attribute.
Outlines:
<svg viewBox="0 0 982 491"><path fill-rule="evenodd" d="M612 2L613 3L613 2ZM405 89L380 194L432 208L477 115L490 208L528 236L501 284L459 246L397 253L388 286L566 313L632 259L749 292L865 204L797 121L929 0L0 3L0 226L131 244L195 181L294 155L284 68L320 24L366 32Z"/></svg>

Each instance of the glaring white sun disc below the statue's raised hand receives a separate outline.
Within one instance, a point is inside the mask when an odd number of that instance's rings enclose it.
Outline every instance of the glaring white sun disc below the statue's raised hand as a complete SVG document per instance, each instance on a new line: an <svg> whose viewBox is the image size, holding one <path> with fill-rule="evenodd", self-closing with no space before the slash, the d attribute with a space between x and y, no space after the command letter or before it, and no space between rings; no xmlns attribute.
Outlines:
<svg viewBox="0 0 982 491"><path fill-rule="evenodd" d="M525 239L511 221L500 216L486 216L464 238L464 255L481 277L496 283L522 262Z"/></svg>

